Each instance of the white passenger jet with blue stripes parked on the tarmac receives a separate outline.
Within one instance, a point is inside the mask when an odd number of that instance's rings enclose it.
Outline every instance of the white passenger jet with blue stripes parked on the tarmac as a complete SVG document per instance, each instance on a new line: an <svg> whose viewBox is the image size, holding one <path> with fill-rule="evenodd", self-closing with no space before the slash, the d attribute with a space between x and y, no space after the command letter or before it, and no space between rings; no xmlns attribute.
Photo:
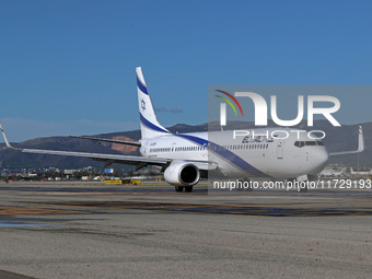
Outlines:
<svg viewBox="0 0 372 279"><path fill-rule="evenodd" d="M256 135L235 137L235 131L210 131L171 133L156 118L142 69L138 67L137 90L141 124L141 140L117 141L92 137L78 137L106 142L131 144L140 148L142 156L101 154L38 149L19 149L10 144L2 129L8 148L24 153L39 153L91 158L105 162L136 165L136 170L155 165L164 172L164 179L175 186L176 191L191 191L200 177L252 177L291 178L299 182L316 176L327 164L329 155L362 152L362 129L359 129L357 151L328 153L322 140L307 137L307 132L282 128L288 138L275 135L278 128L247 130ZM305 191L306 189L302 189Z"/></svg>

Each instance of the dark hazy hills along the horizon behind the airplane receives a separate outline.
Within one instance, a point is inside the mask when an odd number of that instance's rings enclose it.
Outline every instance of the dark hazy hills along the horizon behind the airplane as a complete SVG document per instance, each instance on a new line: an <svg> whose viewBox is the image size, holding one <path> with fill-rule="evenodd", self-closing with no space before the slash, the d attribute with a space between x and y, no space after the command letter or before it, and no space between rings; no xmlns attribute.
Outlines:
<svg viewBox="0 0 372 279"><path fill-rule="evenodd" d="M372 147L372 123L361 124L363 126L365 147ZM208 126L211 130L220 130L218 123L201 124L196 126L189 126L185 124L177 124L170 127L172 132L193 132L193 131L208 131ZM269 127L274 124L269 124ZM342 125L342 127L334 127L327 120L314 121L314 127L309 129L306 123L303 121L297 126L306 130L323 130L327 137L324 142L329 152L356 150L358 146L358 126L359 125ZM254 123L228 123L226 129L249 129L255 128ZM280 129L280 127L278 127ZM126 137L127 140L139 140L141 135L140 130L123 131L94 135L98 138L115 138ZM81 152L94 152L94 153L112 153L112 154L130 154L139 155L138 150L123 149L117 144L107 142L98 142L93 140L83 140L69 137L49 137L37 138L27 140L21 143L12 143L18 148L31 148L31 149L50 149L50 150L68 150L68 151L81 151ZM372 149L372 148L371 148ZM360 166L372 166L372 151L365 150L359 155ZM334 156L330 162L344 162L357 166L358 155L344 155ZM4 143L0 143L0 167L2 168L20 168L20 167L59 167L59 168L80 168L83 166L96 166L101 167L102 162L94 162L84 158L71 158L71 156L58 156L58 155L42 155L42 154L24 154L15 152L5 148Z"/></svg>

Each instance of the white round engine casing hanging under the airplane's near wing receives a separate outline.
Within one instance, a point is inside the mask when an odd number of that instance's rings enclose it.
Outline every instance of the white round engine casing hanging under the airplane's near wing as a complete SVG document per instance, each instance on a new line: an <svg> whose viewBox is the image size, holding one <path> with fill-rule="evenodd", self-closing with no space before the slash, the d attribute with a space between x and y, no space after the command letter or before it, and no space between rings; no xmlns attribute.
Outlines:
<svg viewBox="0 0 372 279"><path fill-rule="evenodd" d="M174 186L193 186L200 179L200 171L187 162L174 162L164 172L164 179Z"/></svg>

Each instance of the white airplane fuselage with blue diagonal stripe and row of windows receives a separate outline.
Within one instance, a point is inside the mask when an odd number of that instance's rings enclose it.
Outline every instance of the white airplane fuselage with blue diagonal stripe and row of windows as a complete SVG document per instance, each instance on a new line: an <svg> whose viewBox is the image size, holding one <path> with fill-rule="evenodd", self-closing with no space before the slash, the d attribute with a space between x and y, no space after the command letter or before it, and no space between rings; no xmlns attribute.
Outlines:
<svg viewBox="0 0 372 279"><path fill-rule="evenodd" d="M147 158L216 162L228 177L295 178L315 175L327 164L328 152L321 140L310 139L306 132L281 129L288 130L286 138L276 130L247 130L249 135L254 131L269 137L234 136L233 130L165 135L142 140L140 152Z"/></svg>

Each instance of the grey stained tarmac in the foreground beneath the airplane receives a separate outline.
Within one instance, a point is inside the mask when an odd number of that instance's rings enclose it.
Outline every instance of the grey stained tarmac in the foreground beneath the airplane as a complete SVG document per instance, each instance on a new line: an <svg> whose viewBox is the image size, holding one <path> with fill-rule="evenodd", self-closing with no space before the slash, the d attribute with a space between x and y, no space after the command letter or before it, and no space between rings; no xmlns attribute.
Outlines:
<svg viewBox="0 0 372 279"><path fill-rule="evenodd" d="M224 196L206 186L1 182L0 195L1 278L372 274L371 189Z"/></svg>

